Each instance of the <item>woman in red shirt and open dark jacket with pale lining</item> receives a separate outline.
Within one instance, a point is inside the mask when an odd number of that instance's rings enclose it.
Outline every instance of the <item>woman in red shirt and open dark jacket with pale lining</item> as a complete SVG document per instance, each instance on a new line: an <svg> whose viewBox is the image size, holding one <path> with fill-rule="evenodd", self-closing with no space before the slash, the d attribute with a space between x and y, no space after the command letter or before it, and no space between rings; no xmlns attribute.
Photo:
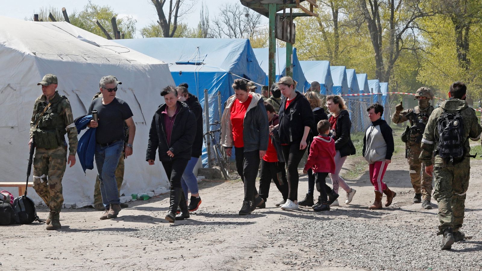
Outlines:
<svg viewBox="0 0 482 271"><path fill-rule="evenodd" d="M221 145L228 156L234 146L236 168L244 183L242 216L264 203L255 182L259 161L268 149L268 116L261 95L249 92L246 80L236 79L232 87L235 95L228 98L221 118Z"/></svg>

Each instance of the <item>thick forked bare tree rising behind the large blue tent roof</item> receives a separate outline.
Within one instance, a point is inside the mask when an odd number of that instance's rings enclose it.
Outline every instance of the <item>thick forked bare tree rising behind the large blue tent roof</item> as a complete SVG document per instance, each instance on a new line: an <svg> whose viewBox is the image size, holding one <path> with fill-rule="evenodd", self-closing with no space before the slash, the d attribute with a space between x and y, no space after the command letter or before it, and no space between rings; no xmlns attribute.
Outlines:
<svg viewBox="0 0 482 271"><path fill-rule="evenodd" d="M169 0L167 16L164 13L166 0L151 0L151 2L156 8L159 17L157 23L161 27L162 35L164 38L172 38L177 30L177 20L182 17L182 15L189 13L197 0ZM181 9L181 7L183 7L183 9Z"/></svg>

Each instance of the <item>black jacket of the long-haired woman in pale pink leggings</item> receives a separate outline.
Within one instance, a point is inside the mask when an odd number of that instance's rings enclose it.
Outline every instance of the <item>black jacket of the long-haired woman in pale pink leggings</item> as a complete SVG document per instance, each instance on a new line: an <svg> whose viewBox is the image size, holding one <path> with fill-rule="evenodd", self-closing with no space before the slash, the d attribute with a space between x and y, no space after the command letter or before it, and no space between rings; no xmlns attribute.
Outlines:
<svg viewBox="0 0 482 271"><path fill-rule="evenodd" d="M330 119L330 113L328 119ZM356 154L355 145L351 142L351 121L347 110L341 110L335 125L335 150L340 151L340 157Z"/></svg>

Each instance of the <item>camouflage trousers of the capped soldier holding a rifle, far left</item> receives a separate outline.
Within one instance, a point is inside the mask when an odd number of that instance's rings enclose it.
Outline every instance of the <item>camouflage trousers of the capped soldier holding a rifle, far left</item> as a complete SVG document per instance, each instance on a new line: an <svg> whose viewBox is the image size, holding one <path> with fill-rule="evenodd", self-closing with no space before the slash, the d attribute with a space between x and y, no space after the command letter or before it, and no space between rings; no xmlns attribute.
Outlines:
<svg viewBox="0 0 482 271"><path fill-rule="evenodd" d="M56 149L35 149L32 187L50 210L55 212L60 212L64 204L62 177L66 165L66 146Z"/></svg>

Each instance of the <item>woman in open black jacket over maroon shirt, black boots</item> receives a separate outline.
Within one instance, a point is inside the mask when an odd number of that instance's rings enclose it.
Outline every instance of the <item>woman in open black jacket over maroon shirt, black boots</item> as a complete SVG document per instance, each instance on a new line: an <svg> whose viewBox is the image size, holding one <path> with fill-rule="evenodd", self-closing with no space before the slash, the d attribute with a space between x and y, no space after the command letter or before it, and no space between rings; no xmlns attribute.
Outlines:
<svg viewBox="0 0 482 271"><path fill-rule="evenodd" d="M152 118L146 161L153 165L156 149L159 149L159 160L171 183L171 200L166 220L174 223L176 219L189 218L181 176L191 158L191 146L196 136L196 129L192 127L196 127L196 117L186 103L177 100L177 91L173 86L165 87L161 96L166 103L159 106ZM181 213L176 217L178 205Z"/></svg>

